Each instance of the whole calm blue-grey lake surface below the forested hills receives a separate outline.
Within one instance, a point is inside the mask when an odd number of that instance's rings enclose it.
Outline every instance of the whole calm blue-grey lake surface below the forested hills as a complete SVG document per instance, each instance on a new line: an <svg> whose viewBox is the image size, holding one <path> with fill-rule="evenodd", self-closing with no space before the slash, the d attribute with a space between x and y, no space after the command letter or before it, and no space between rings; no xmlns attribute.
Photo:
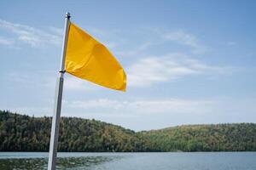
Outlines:
<svg viewBox="0 0 256 170"><path fill-rule="evenodd" d="M0 152L0 169L47 169L46 152ZM256 152L58 153L57 169L255 170Z"/></svg>

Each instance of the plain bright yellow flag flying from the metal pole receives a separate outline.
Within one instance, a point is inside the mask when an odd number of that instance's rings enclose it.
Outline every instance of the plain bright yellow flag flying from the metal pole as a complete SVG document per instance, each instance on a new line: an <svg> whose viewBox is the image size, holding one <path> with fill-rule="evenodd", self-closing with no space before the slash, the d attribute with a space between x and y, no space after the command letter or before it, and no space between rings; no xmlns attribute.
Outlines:
<svg viewBox="0 0 256 170"><path fill-rule="evenodd" d="M118 60L101 42L70 23L66 71L107 88L125 91L126 75Z"/></svg>

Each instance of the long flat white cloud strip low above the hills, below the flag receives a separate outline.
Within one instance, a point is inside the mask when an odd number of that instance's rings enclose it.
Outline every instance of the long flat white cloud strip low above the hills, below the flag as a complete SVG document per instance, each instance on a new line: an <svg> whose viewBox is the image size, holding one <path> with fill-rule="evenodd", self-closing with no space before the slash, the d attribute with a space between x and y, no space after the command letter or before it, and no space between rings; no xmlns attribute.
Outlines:
<svg viewBox="0 0 256 170"><path fill-rule="evenodd" d="M92 99L67 102L67 107L85 109L90 111L119 112L119 114L172 114L172 113L202 113L207 106L214 105L211 100L189 99L136 99L136 100L113 100Z"/></svg>

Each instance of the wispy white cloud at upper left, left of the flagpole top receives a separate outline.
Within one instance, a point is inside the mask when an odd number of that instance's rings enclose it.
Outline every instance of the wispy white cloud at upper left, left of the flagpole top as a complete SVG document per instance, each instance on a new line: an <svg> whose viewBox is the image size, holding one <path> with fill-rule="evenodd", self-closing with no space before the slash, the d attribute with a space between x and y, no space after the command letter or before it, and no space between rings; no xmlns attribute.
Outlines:
<svg viewBox="0 0 256 170"><path fill-rule="evenodd" d="M15 42L26 43L33 48L48 45L59 46L61 44L61 36L55 32L50 33L50 30L43 31L31 26L15 24L1 19L0 28L14 34Z"/></svg>

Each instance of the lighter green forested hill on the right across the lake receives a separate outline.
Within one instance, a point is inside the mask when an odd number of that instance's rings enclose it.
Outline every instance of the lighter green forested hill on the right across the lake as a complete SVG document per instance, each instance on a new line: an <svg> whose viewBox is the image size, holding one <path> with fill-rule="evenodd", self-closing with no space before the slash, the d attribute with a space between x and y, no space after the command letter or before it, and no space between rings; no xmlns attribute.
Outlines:
<svg viewBox="0 0 256 170"><path fill-rule="evenodd" d="M255 151L256 124L169 127L140 133L154 151Z"/></svg>

